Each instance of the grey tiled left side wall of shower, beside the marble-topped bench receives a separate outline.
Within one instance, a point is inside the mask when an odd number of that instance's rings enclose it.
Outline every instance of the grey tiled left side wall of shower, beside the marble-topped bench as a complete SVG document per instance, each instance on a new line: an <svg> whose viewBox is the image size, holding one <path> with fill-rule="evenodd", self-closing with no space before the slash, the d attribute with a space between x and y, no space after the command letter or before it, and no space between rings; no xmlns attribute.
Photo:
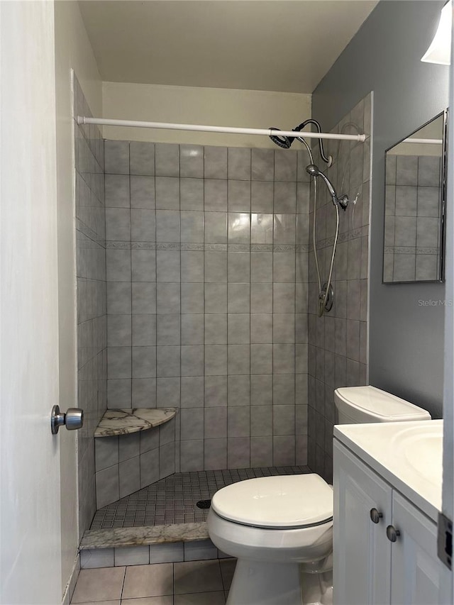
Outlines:
<svg viewBox="0 0 454 605"><path fill-rule="evenodd" d="M77 78L74 115L91 116ZM94 430L107 406L106 221L104 141L96 126L74 120L77 275L77 401L84 410L78 431L79 531L96 511Z"/></svg>

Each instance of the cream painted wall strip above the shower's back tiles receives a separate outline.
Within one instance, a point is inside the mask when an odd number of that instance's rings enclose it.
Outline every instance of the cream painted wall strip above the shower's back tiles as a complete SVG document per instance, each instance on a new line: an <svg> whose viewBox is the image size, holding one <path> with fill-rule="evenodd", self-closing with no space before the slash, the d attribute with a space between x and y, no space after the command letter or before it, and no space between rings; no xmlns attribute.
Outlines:
<svg viewBox="0 0 454 605"><path fill-rule="evenodd" d="M103 117L215 126L291 130L311 116L311 95L103 82ZM104 136L156 143L272 147L269 138L146 128L105 127Z"/></svg>

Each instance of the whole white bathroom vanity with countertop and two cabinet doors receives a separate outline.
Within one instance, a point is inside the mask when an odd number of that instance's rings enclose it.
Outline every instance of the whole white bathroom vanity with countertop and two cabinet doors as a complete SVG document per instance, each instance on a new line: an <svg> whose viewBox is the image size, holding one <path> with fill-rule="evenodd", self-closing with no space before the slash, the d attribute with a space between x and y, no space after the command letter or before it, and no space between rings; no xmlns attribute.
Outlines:
<svg viewBox="0 0 454 605"><path fill-rule="evenodd" d="M445 605L443 421L334 428L336 605Z"/></svg>

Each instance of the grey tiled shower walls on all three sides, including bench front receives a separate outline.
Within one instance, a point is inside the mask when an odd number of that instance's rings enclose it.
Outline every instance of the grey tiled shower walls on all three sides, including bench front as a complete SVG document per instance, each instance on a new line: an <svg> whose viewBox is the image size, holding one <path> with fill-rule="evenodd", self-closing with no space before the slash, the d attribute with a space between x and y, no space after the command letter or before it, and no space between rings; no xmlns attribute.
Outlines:
<svg viewBox="0 0 454 605"><path fill-rule="evenodd" d="M100 138L75 128L87 143L76 154L79 179ZM334 130L363 128L370 132L370 96ZM333 389L367 380L368 143L330 145L328 176L358 199L341 211L336 299L321 319L305 150L106 140L103 152L104 188L87 193L99 231L84 231L77 217L78 267L92 257L87 274L78 269L79 378L82 367L90 372L79 379L89 418L82 528L95 509L174 473L302 472L309 454L309 467L330 479ZM92 184L93 166L78 191ZM333 208L319 192L326 267ZM93 361L85 367L95 358L96 372ZM94 439L106 407L178 413L158 429Z"/></svg>

